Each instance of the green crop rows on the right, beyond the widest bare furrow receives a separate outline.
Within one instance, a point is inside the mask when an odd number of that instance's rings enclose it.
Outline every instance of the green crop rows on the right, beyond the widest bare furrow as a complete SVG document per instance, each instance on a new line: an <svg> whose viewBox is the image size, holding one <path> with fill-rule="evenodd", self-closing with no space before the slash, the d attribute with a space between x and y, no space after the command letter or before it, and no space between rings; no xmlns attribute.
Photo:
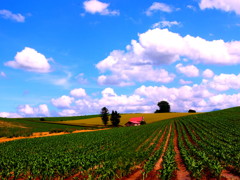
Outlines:
<svg viewBox="0 0 240 180"><path fill-rule="evenodd" d="M176 121L181 156L192 177L218 178L228 167L239 176L239 115L234 108Z"/></svg>

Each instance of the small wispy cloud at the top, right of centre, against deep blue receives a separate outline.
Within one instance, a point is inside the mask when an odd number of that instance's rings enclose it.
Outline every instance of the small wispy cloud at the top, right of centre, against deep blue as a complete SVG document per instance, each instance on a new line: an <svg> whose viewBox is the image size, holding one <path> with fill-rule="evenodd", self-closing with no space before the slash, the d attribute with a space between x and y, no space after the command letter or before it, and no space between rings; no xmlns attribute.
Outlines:
<svg viewBox="0 0 240 180"><path fill-rule="evenodd" d="M173 11L173 9L164 3L160 2L154 2L146 11L147 16L151 16L154 12L156 11L162 11L162 12L167 12L170 13Z"/></svg>

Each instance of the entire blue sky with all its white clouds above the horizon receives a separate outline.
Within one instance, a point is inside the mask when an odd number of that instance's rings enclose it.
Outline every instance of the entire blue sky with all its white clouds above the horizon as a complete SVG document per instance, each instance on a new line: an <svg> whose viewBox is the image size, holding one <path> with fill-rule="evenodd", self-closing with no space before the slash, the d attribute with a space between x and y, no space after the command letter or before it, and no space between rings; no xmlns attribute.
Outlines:
<svg viewBox="0 0 240 180"><path fill-rule="evenodd" d="M0 2L0 116L240 104L240 2Z"/></svg>

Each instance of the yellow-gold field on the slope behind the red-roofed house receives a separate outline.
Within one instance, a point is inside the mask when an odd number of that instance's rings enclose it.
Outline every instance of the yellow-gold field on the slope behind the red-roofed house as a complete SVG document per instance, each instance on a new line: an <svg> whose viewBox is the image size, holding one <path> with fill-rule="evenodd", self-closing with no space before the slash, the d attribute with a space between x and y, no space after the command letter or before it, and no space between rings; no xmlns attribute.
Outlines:
<svg viewBox="0 0 240 180"><path fill-rule="evenodd" d="M191 113L149 113L149 114L122 114L120 125L124 126L125 123L129 121L132 117L144 117L146 123L153 123L156 121L161 121L164 119L171 119L175 117L189 116ZM100 117L90 118L90 119L82 119L82 120L72 120L72 121L60 121L56 122L59 124L71 124L71 125L82 125L82 126L101 126L103 125ZM111 122L109 122L111 124Z"/></svg>

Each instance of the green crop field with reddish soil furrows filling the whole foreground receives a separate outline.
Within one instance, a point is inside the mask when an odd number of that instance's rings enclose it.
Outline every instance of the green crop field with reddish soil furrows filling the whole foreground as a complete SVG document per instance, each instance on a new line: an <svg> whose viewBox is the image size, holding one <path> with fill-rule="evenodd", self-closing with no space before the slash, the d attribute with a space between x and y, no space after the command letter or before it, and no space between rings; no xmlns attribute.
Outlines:
<svg viewBox="0 0 240 180"><path fill-rule="evenodd" d="M0 157L0 179L240 179L240 107L5 142Z"/></svg>

